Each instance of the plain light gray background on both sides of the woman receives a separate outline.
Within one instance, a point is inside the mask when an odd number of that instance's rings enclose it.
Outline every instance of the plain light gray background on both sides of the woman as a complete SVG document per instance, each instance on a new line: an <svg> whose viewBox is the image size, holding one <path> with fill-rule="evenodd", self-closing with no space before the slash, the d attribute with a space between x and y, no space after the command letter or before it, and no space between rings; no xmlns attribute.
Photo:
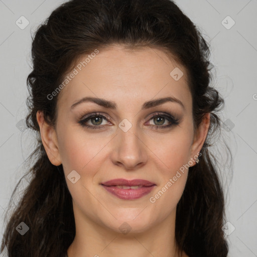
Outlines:
<svg viewBox="0 0 257 257"><path fill-rule="evenodd" d="M31 32L63 2L0 0L0 240L8 201L26 171L24 161L33 150L29 130L17 127L27 113ZM233 155L233 177L230 184L226 183L226 214L227 221L235 227L228 235L229 256L254 257L257 256L257 1L177 0L176 3L210 42L211 61L216 69L214 84L225 98L222 119L228 127L223 132ZM21 16L29 21L24 30L16 25ZM230 29L222 24L227 16L235 22ZM223 23L230 26L232 21L226 20ZM224 174L229 177L226 168Z"/></svg>

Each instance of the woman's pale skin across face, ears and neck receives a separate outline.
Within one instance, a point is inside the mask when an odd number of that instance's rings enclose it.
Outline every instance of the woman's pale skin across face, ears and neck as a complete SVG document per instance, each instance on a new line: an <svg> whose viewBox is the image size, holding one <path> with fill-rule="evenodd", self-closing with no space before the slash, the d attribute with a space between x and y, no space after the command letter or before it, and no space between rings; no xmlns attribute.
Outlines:
<svg viewBox="0 0 257 257"><path fill-rule="evenodd" d="M178 81L170 75L175 67L184 73ZM71 108L89 96L112 101L116 109L93 102ZM175 97L184 107L167 101L142 109L146 101L167 96ZM63 165L73 199L76 236L68 256L178 257L176 206L188 170L155 203L150 197L183 165L197 165L192 158L199 154L209 129L210 113L206 113L194 133L185 68L160 49L127 52L116 45L100 51L58 97L56 127L49 125L40 111L37 120L48 158L53 165ZM92 113L93 117L94 112L106 116L107 121L89 118L86 124L101 128L89 129L78 123L85 114ZM162 129L170 121L161 122L152 114L163 117L164 112L178 118L179 124ZM118 126L123 119L132 124L127 132ZM73 170L80 175L74 184L67 178ZM123 200L100 185L116 178L145 179L156 187L139 199ZM124 222L131 229L127 234L119 229ZM182 256L187 255L183 252Z"/></svg>

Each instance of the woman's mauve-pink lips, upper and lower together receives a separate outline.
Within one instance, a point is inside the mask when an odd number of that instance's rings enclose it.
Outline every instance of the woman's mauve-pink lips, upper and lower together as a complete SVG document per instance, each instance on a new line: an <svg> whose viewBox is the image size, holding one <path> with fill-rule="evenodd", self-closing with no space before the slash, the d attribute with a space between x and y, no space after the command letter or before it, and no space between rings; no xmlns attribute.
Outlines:
<svg viewBox="0 0 257 257"><path fill-rule="evenodd" d="M108 191L109 193L115 195L116 197L123 200L135 200L139 199L147 194L149 194L156 184L148 180L143 179L113 179L106 181L101 184L101 186ZM140 186L137 189L123 189L118 188L117 186Z"/></svg>

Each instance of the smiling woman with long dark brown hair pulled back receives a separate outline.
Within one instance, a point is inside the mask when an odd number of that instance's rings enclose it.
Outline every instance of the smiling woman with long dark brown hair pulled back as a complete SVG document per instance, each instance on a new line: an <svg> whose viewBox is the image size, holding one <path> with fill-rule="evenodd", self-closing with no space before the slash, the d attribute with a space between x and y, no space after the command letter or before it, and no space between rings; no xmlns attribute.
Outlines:
<svg viewBox="0 0 257 257"><path fill-rule="evenodd" d="M170 0L72 0L33 40L31 182L13 256L227 256L208 152L223 103L209 48Z"/></svg>

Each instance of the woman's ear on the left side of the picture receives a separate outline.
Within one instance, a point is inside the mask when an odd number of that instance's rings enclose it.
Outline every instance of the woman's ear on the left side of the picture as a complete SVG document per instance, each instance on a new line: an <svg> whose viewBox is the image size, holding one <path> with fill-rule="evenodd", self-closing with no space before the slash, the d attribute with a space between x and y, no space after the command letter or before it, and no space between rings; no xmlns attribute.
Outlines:
<svg viewBox="0 0 257 257"><path fill-rule="evenodd" d="M37 121L40 127L41 140L49 161L55 166L61 165L62 162L54 127L45 121L42 111L37 111Z"/></svg>

